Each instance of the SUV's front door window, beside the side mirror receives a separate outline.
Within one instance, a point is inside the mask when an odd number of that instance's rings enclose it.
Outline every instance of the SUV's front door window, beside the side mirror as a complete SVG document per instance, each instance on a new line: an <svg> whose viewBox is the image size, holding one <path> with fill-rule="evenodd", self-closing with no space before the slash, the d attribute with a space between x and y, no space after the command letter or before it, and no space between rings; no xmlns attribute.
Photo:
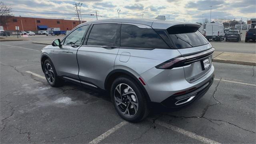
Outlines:
<svg viewBox="0 0 256 144"><path fill-rule="evenodd" d="M71 32L65 39L64 45L82 44L84 36L89 28L89 25L81 26L73 32Z"/></svg>

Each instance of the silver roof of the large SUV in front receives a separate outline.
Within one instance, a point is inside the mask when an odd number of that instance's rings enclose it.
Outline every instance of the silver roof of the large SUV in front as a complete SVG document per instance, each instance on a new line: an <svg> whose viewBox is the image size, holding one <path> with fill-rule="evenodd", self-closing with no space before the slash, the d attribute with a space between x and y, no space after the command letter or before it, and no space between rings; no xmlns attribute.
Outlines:
<svg viewBox="0 0 256 144"><path fill-rule="evenodd" d="M199 24L190 23L190 22L180 22L180 21L171 21L171 20L156 20L156 19L131 19L131 18L130 19L121 18L121 19L95 20L95 21L85 22L80 25L102 23L102 22L122 22L122 23L144 24L147 26L151 26L152 28L155 28L155 29L167 29L171 26L179 25L179 24L200 26ZM78 25L78 26L80 26L80 25Z"/></svg>

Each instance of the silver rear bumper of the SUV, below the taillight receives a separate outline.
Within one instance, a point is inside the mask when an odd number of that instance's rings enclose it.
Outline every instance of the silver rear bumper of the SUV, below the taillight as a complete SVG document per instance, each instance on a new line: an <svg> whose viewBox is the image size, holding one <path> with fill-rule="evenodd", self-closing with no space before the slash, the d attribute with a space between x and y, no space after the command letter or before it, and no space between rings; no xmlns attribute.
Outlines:
<svg viewBox="0 0 256 144"><path fill-rule="evenodd" d="M186 80L183 67L173 68L172 70L152 68L141 74L140 77L144 80L144 82L146 82L144 87L152 102L175 106L175 103L178 100L190 97L192 94L197 93L196 98L201 96L202 92L200 91L205 89L205 84L211 82L212 78L214 77L214 66L211 65L210 70L204 76L191 83ZM211 84L208 84L207 87L210 87L210 85ZM177 92L190 90L192 88L196 88L192 91L193 93L186 93L182 96L174 95ZM200 96L198 95L199 92ZM171 99L170 102L165 102L169 101L169 99ZM176 99L176 101L173 99ZM183 104L180 106L183 106Z"/></svg>

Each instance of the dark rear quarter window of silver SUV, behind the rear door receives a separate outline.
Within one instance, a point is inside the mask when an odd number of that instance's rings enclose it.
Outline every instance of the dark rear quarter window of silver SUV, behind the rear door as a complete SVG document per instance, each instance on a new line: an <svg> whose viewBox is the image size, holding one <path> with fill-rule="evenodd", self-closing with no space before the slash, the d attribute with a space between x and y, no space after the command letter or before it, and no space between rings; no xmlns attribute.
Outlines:
<svg viewBox="0 0 256 144"><path fill-rule="evenodd" d="M169 48L169 46L153 29L139 28L138 26L130 24L122 24L120 46L137 48Z"/></svg>

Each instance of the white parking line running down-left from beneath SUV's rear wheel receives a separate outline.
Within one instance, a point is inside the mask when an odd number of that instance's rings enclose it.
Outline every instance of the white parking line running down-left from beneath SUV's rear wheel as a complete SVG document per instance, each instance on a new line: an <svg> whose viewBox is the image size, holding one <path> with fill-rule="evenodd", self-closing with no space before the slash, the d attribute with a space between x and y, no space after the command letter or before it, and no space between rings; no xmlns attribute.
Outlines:
<svg viewBox="0 0 256 144"><path fill-rule="evenodd" d="M126 121L120 122L118 125L114 126L110 130L106 131L104 134L102 134L102 135L98 136L97 138L95 138L94 140L90 141L89 144L98 144L100 141L104 140L110 134L112 134L119 128L122 128L126 124L128 124L128 122L126 122Z"/></svg>

